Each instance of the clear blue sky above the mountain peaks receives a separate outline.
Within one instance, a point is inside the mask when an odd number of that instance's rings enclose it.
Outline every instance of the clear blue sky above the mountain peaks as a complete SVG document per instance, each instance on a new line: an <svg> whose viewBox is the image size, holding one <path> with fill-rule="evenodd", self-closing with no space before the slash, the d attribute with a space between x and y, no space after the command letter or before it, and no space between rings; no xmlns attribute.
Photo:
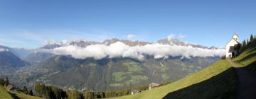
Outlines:
<svg viewBox="0 0 256 99"><path fill-rule="evenodd" d="M0 1L0 45L36 48L46 40L184 42L223 47L233 33L256 34L256 1Z"/></svg>

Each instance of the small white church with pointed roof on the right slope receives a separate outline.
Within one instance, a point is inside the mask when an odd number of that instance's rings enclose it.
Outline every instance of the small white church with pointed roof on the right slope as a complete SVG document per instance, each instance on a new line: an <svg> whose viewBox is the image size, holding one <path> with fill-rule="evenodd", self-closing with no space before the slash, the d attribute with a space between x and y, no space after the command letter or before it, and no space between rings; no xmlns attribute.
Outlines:
<svg viewBox="0 0 256 99"><path fill-rule="evenodd" d="M239 44L238 35L234 34L230 42L225 45L225 57L227 59L237 56L238 52L234 50L234 46Z"/></svg>

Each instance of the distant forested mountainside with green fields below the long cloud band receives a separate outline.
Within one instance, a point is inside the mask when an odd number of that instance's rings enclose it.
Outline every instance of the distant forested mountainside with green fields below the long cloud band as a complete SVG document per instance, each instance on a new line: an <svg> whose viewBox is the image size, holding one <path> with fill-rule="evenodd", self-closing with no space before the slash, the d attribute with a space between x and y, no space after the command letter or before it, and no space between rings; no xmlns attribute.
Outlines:
<svg viewBox="0 0 256 99"><path fill-rule="evenodd" d="M140 62L137 59L121 57L74 59L69 56L55 56L27 68L31 75L17 72L9 77L15 85L28 86L28 88L33 88L33 85L27 82L46 83L63 89L74 88L80 91L92 89L114 91L144 86L151 82L174 82L204 69L218 59L218 57L180 58L146 57ZM92 85L95 87L92 88Z"/></svg>

